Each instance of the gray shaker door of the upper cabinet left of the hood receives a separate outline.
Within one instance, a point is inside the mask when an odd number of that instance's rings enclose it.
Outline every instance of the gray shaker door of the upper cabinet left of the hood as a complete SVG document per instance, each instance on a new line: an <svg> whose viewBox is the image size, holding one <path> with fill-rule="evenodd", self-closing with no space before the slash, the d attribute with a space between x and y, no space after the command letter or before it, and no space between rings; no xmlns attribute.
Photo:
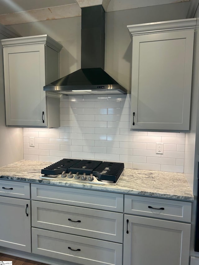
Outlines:
<svg viewBox="0 0 199 265"><path fill-rule="evenodd" d="M47 126L44 49L45 45L3 49L7 125Z"/></svg>

